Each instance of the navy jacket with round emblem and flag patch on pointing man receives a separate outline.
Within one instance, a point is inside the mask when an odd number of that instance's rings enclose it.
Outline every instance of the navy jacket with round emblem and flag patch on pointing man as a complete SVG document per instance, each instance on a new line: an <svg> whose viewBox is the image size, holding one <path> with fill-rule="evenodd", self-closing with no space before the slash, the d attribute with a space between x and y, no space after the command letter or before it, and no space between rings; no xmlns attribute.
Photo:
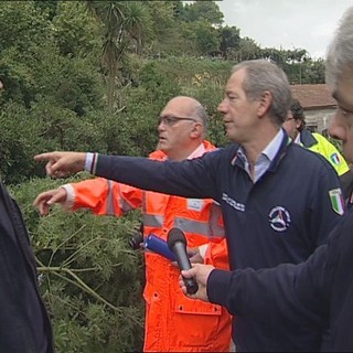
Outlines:
<svg viewBox="0 0 353 353"><path fill-rule="evenodd" d="M268 171L254 184L237 150L232 145L182 162L99 154L96 174L141 189L216 200L225 221L231 269L306 260L341 218L341 208L334 211L330 199L330 192L332 202L341 197L335 171L285 136ZM240 315L233 325L239 351L320 347L320 330L293 329L289 338L288 328Z"/></svg>

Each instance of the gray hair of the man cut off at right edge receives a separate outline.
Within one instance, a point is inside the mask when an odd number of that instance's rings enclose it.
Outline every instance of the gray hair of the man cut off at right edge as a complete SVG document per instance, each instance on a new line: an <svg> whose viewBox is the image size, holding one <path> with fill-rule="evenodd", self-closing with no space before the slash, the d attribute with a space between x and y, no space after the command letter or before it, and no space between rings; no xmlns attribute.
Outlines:
<svg viewBox="0 0 353 353"><path fill-rule="evenodd" d="M353 7L345 10L327 51L325 81L335 88L346 69L353 71Z"/></svg>

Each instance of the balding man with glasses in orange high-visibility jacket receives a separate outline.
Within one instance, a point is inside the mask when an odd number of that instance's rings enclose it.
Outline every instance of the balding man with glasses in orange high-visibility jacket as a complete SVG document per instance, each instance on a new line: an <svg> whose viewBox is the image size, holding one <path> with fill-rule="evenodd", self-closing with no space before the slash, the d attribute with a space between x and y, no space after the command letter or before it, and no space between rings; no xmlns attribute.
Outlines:
<svg viewBox="0 0 353 353"><path fill-rule="evenodd" d="M159 117L158 160L183 160L215 149L204 140L206 113L190 97L172 98ZM34 201L42 215L53 203L72 211L86 207L99 215L121 216L133 208L143 214L143 235L167 239L172 227L182 229L189 247L199 247L224 237L222 215L212 200L184 199L119 184L97 178L41 193ZM217 248L217 247L215 247ZM227 268L227 257L206 253L206 263ZM231 317L212 303L194 301L179 288L180 270L169 259L146 252L146 324L143 351L228 352Z"/></svg>

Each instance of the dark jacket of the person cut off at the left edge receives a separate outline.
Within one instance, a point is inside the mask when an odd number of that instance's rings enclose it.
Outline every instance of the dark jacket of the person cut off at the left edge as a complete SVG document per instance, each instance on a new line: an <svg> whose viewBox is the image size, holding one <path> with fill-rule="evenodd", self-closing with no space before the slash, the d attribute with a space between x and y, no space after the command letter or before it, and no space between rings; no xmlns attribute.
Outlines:
<svg viewBox="0 0 353 353"><path fill-rule="evenodd" d="M22 214L0 183L0 352L52 353L52 329L38 289Z"/></svg>

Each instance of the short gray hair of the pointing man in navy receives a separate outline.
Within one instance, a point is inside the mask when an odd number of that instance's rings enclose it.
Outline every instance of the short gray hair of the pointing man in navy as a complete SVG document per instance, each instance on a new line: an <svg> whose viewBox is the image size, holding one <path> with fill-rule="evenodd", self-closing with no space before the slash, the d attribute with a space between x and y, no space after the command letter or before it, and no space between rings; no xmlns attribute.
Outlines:
<svg viewBox="0 0 353 353"><path fill-rule="evenodd" d="M285 72L269 61L250 60L235 65L232 73L242 68L246 71L243 82L246 97L258 100L265 92L269 92L272 96L269 114L275 118L275 124L282 125L291 103L290 86Z"/></svg>

